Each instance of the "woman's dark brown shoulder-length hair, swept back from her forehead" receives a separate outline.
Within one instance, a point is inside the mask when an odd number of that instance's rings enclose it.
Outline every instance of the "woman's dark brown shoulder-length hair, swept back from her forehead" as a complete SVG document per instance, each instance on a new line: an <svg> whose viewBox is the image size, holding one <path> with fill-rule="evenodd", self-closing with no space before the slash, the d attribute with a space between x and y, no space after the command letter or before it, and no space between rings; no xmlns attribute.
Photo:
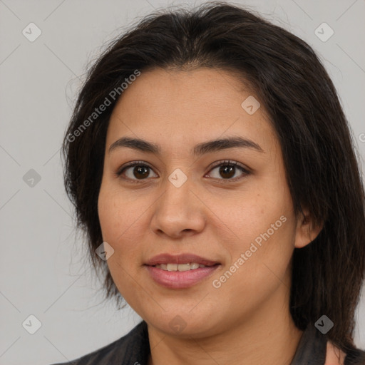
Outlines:
<svg viewBox="0 0 365 365"><path fill-rule="evenodd" d="M282 148L295 213L303 214L305 207L314 225L323 224L311 244L294 250L294 323L304 330L325 314L334 322L328 339L344 351L351 349L364 279L365 217L364 186L349 125L334 84L312 48L232 4L150 14L110 43L88 72L63 140L64 178L93 266L105 275L106 298L121 298L106 262L95 254L103 242L98 193L106 131L118 101L110 93L120 91L136 70L200 67L240 75L267 110ZM110 105L93 115L106 98Z"/></svg>

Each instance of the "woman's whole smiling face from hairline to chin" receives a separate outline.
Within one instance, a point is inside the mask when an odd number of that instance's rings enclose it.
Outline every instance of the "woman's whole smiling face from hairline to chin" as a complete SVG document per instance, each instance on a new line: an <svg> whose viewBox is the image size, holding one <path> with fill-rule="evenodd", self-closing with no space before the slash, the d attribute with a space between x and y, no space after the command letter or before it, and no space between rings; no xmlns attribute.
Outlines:
<svg viewBox="0 0 365 365"><path fill-rule="evenodd" d="M110 118L98 199L108 267L165 333L206 336L289 307L304 239L277 136L252 97L222 70L155 69Z"/></svg>

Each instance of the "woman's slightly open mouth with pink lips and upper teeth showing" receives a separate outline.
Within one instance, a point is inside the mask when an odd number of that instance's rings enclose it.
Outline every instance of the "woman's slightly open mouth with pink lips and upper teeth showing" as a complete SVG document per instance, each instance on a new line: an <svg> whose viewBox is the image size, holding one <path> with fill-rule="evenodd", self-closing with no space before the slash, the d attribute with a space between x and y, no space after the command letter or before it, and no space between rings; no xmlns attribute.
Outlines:
<svg viewBox="0 0 365 365"><path fill-rule="evenodd" d="M220 262L192 254L162 254L148 260L145 267L150 278L160 286L185 289L210 277Z"/></svg>

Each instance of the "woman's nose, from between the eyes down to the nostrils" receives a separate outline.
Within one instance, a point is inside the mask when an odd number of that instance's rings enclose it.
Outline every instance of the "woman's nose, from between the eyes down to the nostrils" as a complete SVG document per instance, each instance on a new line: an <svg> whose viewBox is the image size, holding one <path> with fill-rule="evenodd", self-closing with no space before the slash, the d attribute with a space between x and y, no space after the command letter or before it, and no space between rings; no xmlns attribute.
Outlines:
<svg viewBox="0 0 365 365"><path fill-rule="evenodd" d="M197 197L190 178L178 187L166 179L164 192L153 207L151 228L158 235L172 238L202 232L206 223L205 205Z"/></svg>

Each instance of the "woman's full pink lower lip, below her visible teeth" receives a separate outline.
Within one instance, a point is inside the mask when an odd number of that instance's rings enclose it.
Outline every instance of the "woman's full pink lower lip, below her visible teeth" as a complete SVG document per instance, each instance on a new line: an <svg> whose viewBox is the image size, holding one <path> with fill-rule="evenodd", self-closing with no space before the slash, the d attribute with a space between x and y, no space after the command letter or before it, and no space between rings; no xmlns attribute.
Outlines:
<svg viewBox="0 0 365 365"><path fill-rule="evenodd" d="M189 288L200 282L202 279L209 277L217 267L199 267L189 271L166 271L154 266L147 266L150 276L163 287L171 289Z"/></svg>

